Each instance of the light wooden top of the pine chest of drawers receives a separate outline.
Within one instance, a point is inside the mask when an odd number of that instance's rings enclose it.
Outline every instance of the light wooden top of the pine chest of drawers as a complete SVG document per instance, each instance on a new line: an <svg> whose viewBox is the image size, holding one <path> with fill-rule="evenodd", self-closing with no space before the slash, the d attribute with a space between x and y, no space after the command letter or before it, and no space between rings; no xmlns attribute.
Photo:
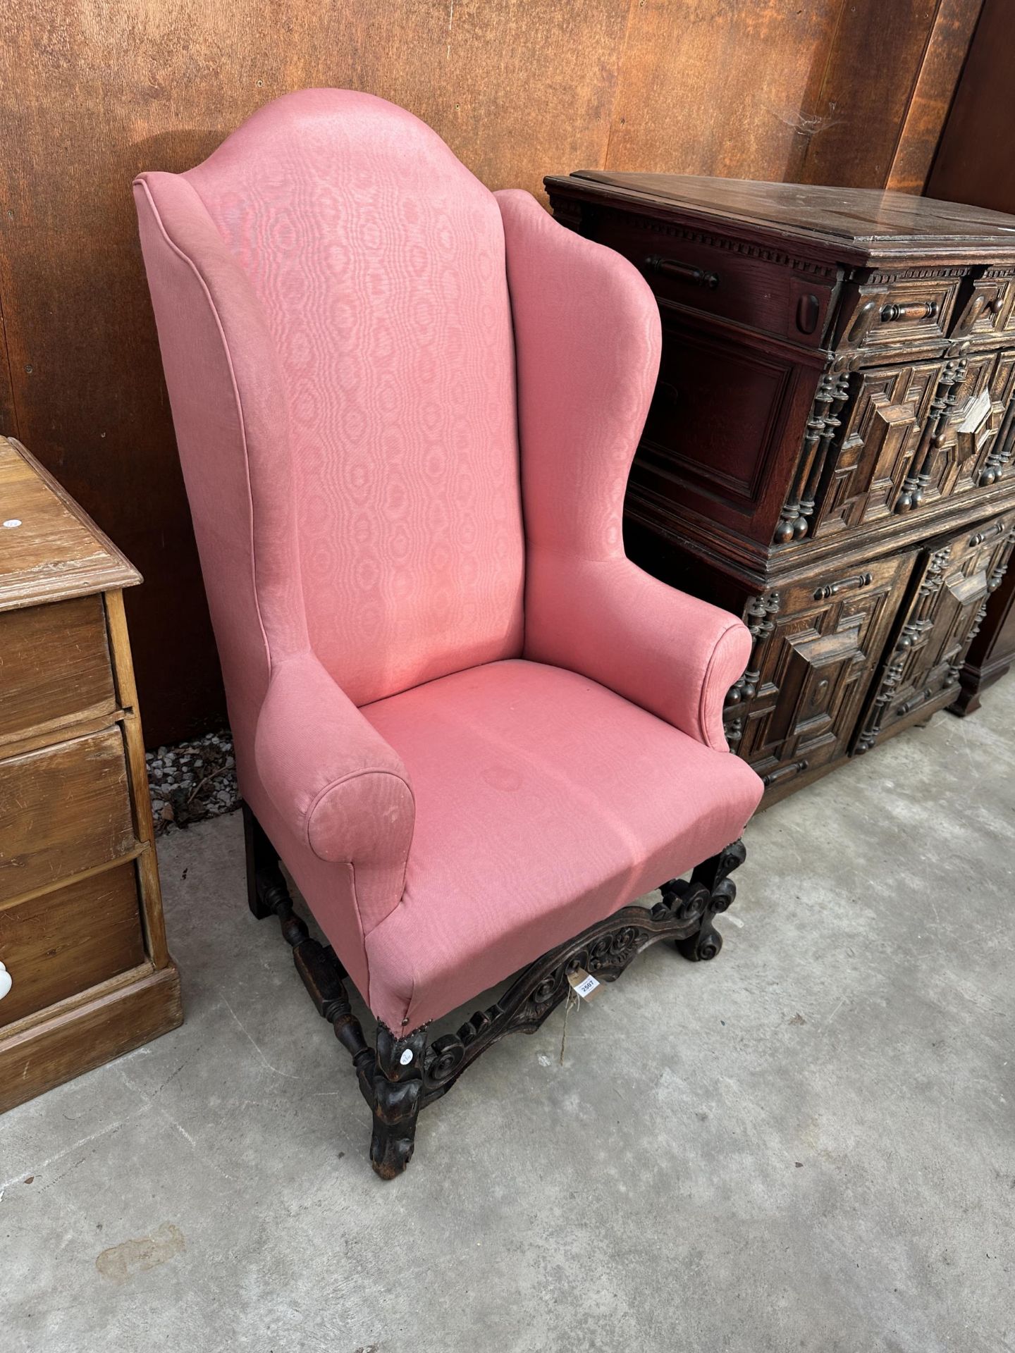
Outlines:
<svg viewBox="0 0 1015 1353"><path fill-rule="evenodd" d="M31 452L0 436L0 612L139 582L137 568Z"/></svg>

